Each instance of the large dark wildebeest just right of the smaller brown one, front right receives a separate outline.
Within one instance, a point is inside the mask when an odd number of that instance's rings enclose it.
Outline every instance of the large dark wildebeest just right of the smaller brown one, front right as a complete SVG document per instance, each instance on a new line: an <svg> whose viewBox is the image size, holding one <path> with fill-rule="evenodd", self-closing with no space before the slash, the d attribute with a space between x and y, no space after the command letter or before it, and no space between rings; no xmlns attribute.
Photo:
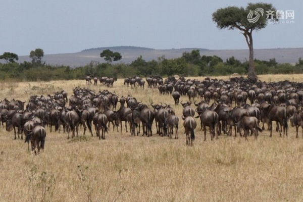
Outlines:
<svg viewBox="0 0 303 202"><path fill-rule="evenodd" d="M278 124L283 126L283 136L285 135L285 133L287 136L288 125L287 125L286 108L281 106L268 105L265 108L261 108L261 110L264 112L264 115L268 120L269 128L270 128L270 137L272 137L272 121L276 121L277 126ZM281 137L282 134L280 127L279 127L279 133Z"/></svg>

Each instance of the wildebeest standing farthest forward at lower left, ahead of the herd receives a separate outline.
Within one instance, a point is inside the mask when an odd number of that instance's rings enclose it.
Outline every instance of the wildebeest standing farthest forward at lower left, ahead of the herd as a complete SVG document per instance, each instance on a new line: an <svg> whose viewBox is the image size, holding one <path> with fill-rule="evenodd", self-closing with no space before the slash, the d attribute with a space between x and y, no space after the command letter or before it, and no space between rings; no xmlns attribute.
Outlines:
<svg viewBox="0 0 303 202"><path fill-rule="evenodd" d="M44 150L44 143L45 143L45 137L46 137L46 130L44 127L40 125L36 125L34 129L26 136L25 142L31 142L31 148L36 152L36 147L38 149L38 154L40 153L40 149L42 151Z"/></svg>

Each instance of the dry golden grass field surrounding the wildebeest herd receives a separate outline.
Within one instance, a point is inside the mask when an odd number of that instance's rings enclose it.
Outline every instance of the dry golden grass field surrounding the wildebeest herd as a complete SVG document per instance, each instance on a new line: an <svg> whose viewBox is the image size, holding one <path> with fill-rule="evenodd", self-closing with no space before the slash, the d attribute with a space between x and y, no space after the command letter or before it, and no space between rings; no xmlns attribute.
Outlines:
<svg viewBox="0 0 303 202"><path fill-rule="evenodd" d="M303 75L259 78L303 82ZM30 95L62 89L70 97L76 86L106 89L99 83L87 86L84 79L0 84L0 99L26 102ZM303 201L301 129L298 139L290 127L288 137L273 131L270 138L263 131L258 140L221 135L211 141L208 131L203 141L197 119L194 145L186 146L182 106L174 106L171 95L125 87L123 79L109 90L147 105L171 104L180 118L179 139L131 136L124 126L122 133L111 126L106 140L89 133L83 137L83 128L78 138L67 139L67 133L51 133L46 127L44 152L35 156L24 140L14 140L14 132L0 126L0 201Z"/></svg>

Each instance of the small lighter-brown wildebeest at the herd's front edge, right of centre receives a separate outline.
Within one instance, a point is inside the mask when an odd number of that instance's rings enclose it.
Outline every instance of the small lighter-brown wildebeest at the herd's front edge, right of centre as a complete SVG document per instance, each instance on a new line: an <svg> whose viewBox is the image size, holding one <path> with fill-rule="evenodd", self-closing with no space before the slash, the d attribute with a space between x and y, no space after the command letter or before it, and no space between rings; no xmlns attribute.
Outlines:
<svg viewBox="0 0 303 202"><path fill-rule="evenodd" d="M247 134L249 130L251 134L255 134L255 139L258 137L258 130L262 132L262 129L259 126L259 119L253 116L243 116L236 125L244 130L244 137L247 140Z"/></svg>

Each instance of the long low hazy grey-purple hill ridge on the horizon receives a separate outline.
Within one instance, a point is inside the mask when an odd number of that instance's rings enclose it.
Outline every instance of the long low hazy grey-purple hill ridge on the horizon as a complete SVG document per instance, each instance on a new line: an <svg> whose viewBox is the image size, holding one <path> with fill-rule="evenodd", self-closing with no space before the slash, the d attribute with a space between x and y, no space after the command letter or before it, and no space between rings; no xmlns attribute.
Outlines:
<svg viewBox="0 0 303 202"><path fill-rule="evenodd" d="M248 49L230 49L230 50L210 50L205 48L179 48L179 49L153 49L137 46L114 46L114 47L98 47L85 49L78 53L68 54L51 54L44 55L43 60L46 64L51 65L69 65L70 67L79 67L88 64L91 61L105 62L100 58L100 53L104 49L110 49L113 52L119 52L122 60L118 63L131 63L140 55L145 61L157 60L158 57L165 56L168 59L178 58L184 52L191 52L192 49L199 49L200 55L219 56L226 61L227 58L234 56L240 61L248 60ZM278 63L295 64L298 58L303 58L303 48L273 48L273 49L255 49L255 58L258 60L266 60L275 58ZM30 61L29 56L19 56L20 63Z"/></svg>

